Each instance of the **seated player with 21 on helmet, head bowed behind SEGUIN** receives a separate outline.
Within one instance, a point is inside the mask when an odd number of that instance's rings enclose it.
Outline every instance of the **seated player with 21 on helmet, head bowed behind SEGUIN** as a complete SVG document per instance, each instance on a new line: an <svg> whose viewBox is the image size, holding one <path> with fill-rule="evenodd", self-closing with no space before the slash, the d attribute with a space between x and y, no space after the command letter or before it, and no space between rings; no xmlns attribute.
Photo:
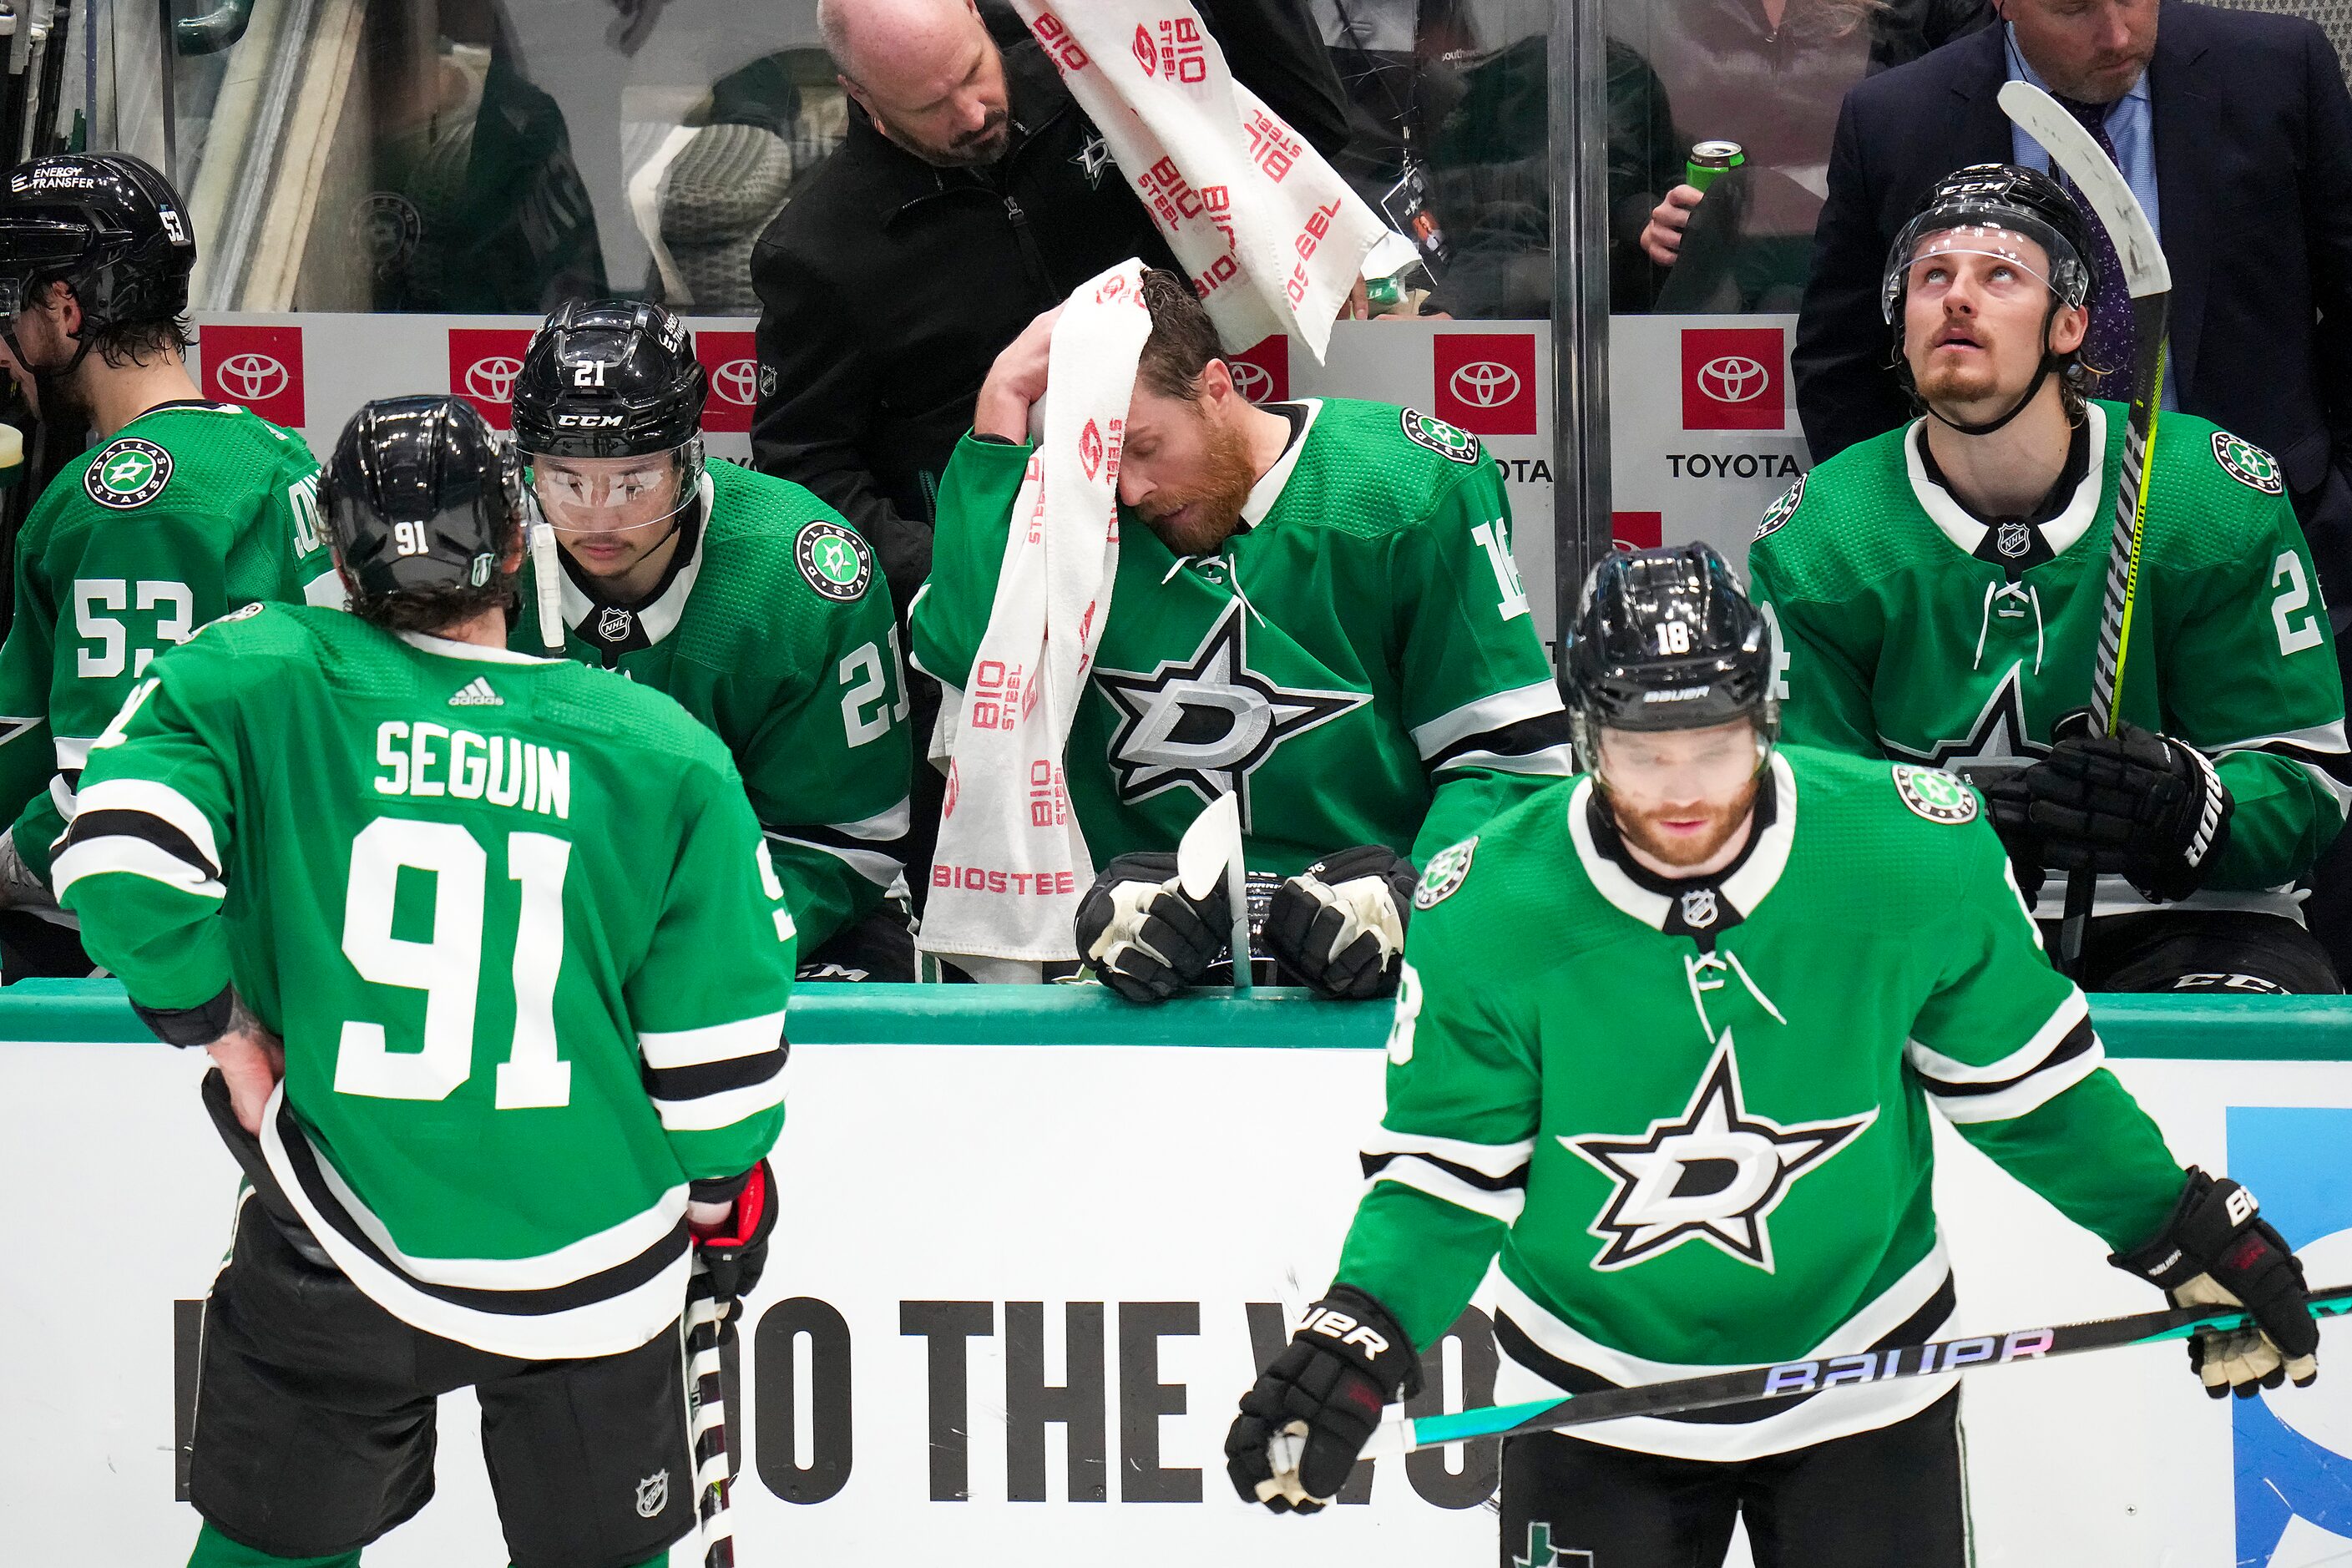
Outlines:
<svg viewBox="0 0 2352 1568"><path fill-rule="evenodd" d="M727 743L811 954L802 978L913 980L906 912L884 905L913 766L889 588L830 505L703 458L708 393L661 306L576 303L539 329L515 444L562 576L546 592L546 562L524 571L510 646L668 691Z"/></svg>

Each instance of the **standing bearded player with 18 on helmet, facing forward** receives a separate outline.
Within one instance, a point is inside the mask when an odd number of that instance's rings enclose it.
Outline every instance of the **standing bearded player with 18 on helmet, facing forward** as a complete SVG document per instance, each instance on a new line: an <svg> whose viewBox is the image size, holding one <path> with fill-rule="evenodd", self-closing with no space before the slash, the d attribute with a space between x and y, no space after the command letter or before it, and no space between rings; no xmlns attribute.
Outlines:
<svg viewBox="0 0 2352 1568"><path fill-rule="evenodd" d="M1421 875L1371 1187L1242 1399L1244 1500L1329 1502L1496 1253L1496 1401L1945 1335L1929 1103L2117 1267L2251 1307L2209 1392L2317 1375L2300 1262L2100 1067L1976 795L1773 748L1771 658L1705 545L1595 571L1597 766ZM1957 1413L1947 1375L1510 1439L1501 1561L1703 1568L1745 1514L1759 1568L1962 1568Z"/></svg>

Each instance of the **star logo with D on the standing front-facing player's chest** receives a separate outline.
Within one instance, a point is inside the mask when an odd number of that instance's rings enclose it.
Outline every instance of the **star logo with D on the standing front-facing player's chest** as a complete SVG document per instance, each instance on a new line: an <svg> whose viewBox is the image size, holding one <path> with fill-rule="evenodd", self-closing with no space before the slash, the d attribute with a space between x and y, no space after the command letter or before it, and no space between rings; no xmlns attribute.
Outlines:
<svg viewBox="0 0 2352 1568"><path fill-rule="evenodd" d="M1679 1117L1651 1121L1642 1138L1559 1140L1616 1182L1602 1215L1588 1227L1609 1244L1592 1267L1628 1269L1684 1241L1705 1241L1771 1274L1771 1232L1764 1218L1799 1175L1818 1171L1877 1119L1877 1107L1860 1117L1792 1126L1750 1117L1740 1103L1731 1030L1724 1030Z"/></svg>

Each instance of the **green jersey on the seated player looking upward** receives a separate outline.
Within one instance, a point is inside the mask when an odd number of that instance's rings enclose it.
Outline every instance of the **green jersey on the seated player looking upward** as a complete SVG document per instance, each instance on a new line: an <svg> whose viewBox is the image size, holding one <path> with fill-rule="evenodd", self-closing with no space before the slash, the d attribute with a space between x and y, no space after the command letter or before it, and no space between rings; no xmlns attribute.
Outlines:
<svg viewBox="0 0 2352 1568"><path fill-rule="evenodd" d="M2098 482L2046 522L1985 527L1938 484L1922 423L1851 447L1757 527L1785 738L1978 773L2046 755L2091 703L2126 411L2093 402ZM2190 414L2157 425L2122 717L2213 759L2237 811L2176 907L2300 919L2291 884L2352 802L2343 682L2279 463ZM2147 910L2103 877L2098 912ZM2056 917L2051 900L2039 914Z"/></svg>

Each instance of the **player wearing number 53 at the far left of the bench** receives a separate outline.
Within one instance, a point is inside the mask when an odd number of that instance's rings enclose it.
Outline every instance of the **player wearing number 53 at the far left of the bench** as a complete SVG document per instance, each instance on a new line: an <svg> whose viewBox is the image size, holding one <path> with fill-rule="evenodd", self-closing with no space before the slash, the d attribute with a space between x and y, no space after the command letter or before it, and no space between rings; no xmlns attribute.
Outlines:
<svg viewBox="0 0 2352 1568"><path fill-rule="evenodd" d="M52 442L82 440L16 536L0 649L0 905L42 910L82 757L158 649L256 599L341 602L318 463L292 430L188 378L195 235L172 186L118 153L35 158L0 193L0 364ZM54 748L54 762L47 752ZM89 973L71 926L0 922L12 973Z"/></svg>

